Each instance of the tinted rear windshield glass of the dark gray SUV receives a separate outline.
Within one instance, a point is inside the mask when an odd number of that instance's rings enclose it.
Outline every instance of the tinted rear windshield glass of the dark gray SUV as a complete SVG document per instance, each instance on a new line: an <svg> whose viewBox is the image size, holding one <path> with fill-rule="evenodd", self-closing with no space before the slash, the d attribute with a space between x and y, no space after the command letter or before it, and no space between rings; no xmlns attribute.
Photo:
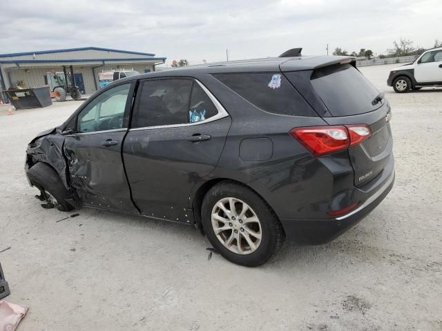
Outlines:
<svg viewBox="0 0 442 331"><path fill-rule="evenodd" d="M379 91L351 64L315 70L310 81L334 117L363 114L382 106L372 105Z"/></svg>

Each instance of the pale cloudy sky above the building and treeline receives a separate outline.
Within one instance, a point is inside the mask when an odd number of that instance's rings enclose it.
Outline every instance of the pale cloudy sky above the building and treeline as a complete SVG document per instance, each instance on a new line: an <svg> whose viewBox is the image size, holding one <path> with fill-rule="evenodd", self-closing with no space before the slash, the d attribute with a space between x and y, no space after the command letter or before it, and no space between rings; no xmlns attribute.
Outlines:
<svg viewBox="0 0 442 331"><path fill-rule="evenodd" d="M190 64L442 41L442 0L0 0L0 54L95 46Z"/></svg>

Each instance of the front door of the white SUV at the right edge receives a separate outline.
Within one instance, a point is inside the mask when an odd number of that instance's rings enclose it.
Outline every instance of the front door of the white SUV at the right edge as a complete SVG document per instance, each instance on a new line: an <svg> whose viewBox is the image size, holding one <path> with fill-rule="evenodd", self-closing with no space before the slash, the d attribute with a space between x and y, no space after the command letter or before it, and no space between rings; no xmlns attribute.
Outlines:
<svg viewBox="0 0 442 331"><path fill-rule="evenodd" d="M442 50L426 52L414 66L418 83L442 83Z"/></svg>

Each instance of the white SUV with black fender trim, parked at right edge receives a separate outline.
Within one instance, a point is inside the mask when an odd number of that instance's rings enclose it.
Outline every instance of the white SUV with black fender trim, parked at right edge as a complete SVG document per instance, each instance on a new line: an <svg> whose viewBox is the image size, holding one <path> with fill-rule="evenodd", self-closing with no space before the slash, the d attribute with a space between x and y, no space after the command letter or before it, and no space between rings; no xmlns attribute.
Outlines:
<svg viewBox="0 0 442 331"><path fill-rule="evenodd" d="M387 85L397 93L442 86L442 47L425 50L414 62L394 68Z"/></svg>

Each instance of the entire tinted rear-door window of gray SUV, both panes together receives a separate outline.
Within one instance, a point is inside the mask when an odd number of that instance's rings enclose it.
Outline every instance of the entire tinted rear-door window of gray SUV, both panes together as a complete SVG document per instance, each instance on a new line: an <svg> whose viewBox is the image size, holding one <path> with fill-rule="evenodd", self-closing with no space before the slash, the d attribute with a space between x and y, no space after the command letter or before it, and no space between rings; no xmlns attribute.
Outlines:
<svg viewBox="0 0 442 331"><path fill-rule="evenodd" d="M191 79L144 81L134 127L204 121L217 114L209 96Z"/></svg>

